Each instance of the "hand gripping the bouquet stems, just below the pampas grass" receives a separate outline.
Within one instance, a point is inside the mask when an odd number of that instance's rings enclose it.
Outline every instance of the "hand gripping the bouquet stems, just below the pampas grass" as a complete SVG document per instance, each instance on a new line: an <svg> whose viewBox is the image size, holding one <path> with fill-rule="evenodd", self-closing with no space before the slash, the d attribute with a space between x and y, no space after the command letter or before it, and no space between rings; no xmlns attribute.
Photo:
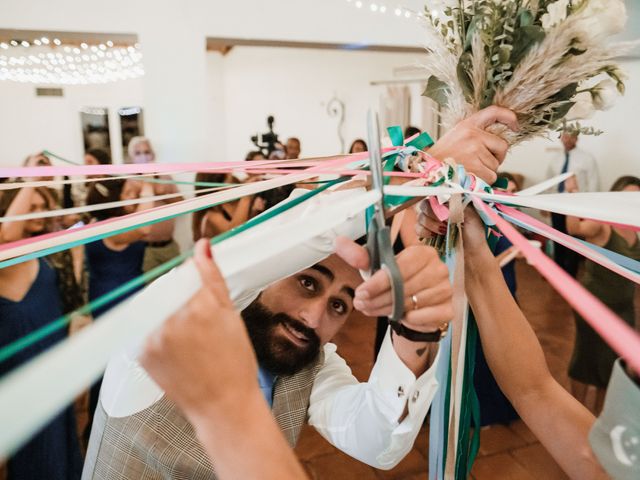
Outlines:
<svg viewBox="0 0 640 480"><path fill-rule="evenodd" d="M440 161L452 158L467 172L491 185L498 178L496 171L509 149L505 140L486 131L495 123L513 131L520 129L515 113L494 105L458 123L429 149L429 154Z"/></svg>

